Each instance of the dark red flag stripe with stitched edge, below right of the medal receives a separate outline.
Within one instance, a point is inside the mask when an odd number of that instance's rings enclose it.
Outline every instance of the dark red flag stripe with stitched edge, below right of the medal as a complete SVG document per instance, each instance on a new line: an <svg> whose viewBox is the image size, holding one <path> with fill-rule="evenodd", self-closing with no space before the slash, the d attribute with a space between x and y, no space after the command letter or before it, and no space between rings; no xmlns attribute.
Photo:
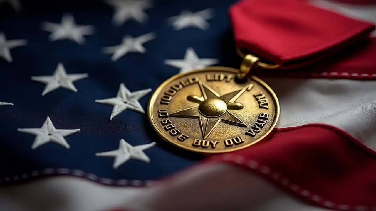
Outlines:
<svg viewBox="0 0 376 211"><path fill-rule="evenodd" d="M230 162L316 206L376 208L376 155L337 128L311 124L279 130L268 142L207 162Z"/></svg>

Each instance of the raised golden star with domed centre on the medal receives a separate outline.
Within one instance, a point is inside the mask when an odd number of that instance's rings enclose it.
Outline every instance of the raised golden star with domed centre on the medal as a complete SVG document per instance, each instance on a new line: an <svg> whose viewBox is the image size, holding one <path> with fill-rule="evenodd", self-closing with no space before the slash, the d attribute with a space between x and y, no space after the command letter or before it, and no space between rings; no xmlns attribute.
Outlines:
<svg viewBox="0 0 376 211"><path fill-rule="evenodd" d="M218 94L201 81L199 81L199 86L202 96L189 95L187 97L189 101L199 103L199 105L171 113L169 116L199 119L199 126L204 140L210 136L221 122L239 127L247 127L243 121L230 113L229 110L244 108L243 104L235 101L244 92L252 89L252 83L225 95Z"/></svg>

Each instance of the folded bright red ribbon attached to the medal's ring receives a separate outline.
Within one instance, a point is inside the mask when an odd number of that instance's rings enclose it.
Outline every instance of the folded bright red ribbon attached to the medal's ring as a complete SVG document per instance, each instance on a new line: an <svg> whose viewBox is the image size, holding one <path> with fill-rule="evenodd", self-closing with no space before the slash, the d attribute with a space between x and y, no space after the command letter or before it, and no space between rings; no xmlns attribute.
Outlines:
<svg viewBox="0 0 376 211"><path fill-rule="evenodd" d="M238 48L281 69L315 63L369 38L371 23L302 0L243 0L230 8Z"/></svg>

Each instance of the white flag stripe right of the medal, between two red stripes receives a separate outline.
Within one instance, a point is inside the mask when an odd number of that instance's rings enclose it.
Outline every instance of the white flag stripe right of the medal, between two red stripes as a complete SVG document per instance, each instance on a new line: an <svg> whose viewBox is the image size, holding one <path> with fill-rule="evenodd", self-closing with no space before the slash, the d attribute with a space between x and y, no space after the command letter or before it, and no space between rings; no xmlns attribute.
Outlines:
<svg viewBox="0 0 376 211"><path fill-rule="evenodd" d="M333 125L376 149L376 81L263 78L281 106L279 128Z"/></svg>

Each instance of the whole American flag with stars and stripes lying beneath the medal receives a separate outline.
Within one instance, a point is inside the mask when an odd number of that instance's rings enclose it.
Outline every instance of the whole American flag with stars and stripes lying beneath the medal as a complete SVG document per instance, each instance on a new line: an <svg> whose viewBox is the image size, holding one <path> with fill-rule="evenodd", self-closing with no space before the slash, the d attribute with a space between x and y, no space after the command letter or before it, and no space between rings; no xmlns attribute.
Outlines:
<svg viewBox="0 0 376 211"><path fill-rule="evenodd" d="M240 65L240 4L2 1L0 210L376 209L374 37L309 69L258 72L281 105L268 141L204 158L152 130L164 80ZM375 4L309 4L376 22Z"/></svg>

